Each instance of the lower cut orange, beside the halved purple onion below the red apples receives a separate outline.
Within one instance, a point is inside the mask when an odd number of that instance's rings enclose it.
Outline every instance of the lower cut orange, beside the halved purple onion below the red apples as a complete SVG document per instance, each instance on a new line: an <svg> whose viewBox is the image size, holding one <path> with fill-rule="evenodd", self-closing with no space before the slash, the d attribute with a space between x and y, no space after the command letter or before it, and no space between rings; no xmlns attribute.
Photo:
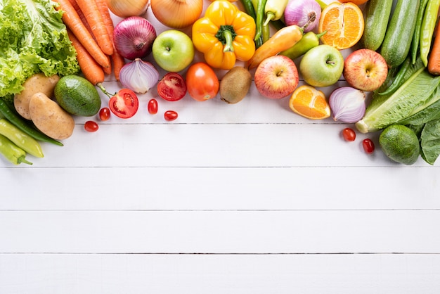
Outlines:
<svg viewBox="0 0 440 294"><path fill-rule="evenodd" d="M289 99L290 109L311 120L330 117L330 106L323 91L304 84L293 91Z"/></svg>

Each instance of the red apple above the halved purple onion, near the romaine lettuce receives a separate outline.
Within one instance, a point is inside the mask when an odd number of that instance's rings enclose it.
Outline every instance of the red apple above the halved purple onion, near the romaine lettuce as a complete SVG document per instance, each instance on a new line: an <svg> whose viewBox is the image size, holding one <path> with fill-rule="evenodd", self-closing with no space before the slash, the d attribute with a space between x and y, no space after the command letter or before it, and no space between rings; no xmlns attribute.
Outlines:
<svg viewBox="0 0 440 294"><path fill-rule="evenodd" d="M358 49L345 58L342 74L351 87L362 91L374 91L382 86L387 78L387 61L376 51Z"/></svg>

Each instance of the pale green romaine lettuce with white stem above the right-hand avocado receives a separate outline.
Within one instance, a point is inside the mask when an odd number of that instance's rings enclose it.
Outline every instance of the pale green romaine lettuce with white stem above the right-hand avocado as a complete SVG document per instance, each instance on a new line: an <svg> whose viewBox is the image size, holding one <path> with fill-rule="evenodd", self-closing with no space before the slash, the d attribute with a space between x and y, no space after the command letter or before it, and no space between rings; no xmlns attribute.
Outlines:
<svg viewBox="0 0 440 294"><path fill-rule="evenodd" d="M390 96L374 98L362 120L360 132L374 132L390 124L422 124L439 117L440 76L420 68Z"/></svg>

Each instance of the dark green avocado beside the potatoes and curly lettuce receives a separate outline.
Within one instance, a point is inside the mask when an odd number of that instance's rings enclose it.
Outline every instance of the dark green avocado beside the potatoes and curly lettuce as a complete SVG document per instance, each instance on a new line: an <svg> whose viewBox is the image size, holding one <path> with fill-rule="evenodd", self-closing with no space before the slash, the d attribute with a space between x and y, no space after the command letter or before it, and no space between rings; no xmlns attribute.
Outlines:
<svg viewBox="0 0 440 294"><path fill-rule="evenodd" d="M72 115L93 116L101 108L98 90L84 77L66 75L55 86L56 102Z"/></svg>

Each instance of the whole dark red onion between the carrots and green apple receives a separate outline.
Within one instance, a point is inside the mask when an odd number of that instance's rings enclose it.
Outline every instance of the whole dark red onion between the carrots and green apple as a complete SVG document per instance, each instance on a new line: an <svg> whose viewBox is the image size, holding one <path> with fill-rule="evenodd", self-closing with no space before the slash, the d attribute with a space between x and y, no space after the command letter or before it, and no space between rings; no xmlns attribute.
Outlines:
<svg viewBox="0 0 440 294"><path fill-rule="evenodd" d="M141 16L121 20L113 32L115 49L119 55L130 60L148 56L155 39L155 28Z"/></svg>

